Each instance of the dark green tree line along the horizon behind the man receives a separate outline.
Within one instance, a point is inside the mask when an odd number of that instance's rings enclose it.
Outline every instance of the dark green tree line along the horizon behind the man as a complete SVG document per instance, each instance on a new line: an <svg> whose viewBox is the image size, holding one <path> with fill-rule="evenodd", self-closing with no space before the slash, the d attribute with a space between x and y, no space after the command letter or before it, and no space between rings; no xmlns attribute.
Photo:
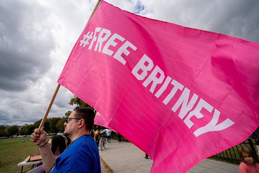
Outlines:
<svg viewBox="0 0 259 173"><path fill-rule="evenodd" d="M70 105L75 105L75 107L89 107L93 109L93 107L90 107L87 103L80 100L78 97L73 96L69 102ZM93 109L94 110L94 109ZM64 122L66 121L66 118L70 115L72 111L68 111L65 113L65 116L62 118L47 118L44 123L44 130L47 133L57 133L59 131L64 131ZM33 133L35 128L38 128L41 124L41 120L36 121L34 124L31 125L25 125L22 128L19 128L18 125L0 125L0 137L5 136L13 136L13 135L30 135ZM95 125L93 126L93 129L95 128Z"/></svg>

